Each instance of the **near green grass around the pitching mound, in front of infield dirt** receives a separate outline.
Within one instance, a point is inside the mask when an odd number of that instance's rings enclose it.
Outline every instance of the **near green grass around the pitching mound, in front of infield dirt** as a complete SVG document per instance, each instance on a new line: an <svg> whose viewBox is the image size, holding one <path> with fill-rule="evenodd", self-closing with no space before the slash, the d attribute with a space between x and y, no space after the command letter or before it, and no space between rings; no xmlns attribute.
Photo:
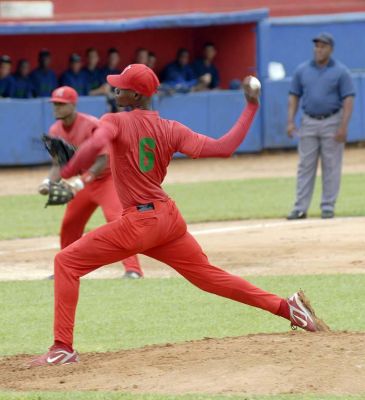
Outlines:
<svg viewBox="0 0 365 400"><path fill-rule="evenodd" d="M253 283L286 296L298 287L315 299L318 314L334 330L362 330L365 275L253 277ZM326 288L326 290L324 290ZM0 354L41 353L52 342L52 283L1 282ZM332 304L329 308L327 305ZM14 312L16 310L16 312ZM93 310L92 313L90 310ZM143 322L141 322L143 321ZM81 284L75 345L81 352L113 351L248 333L285 332L288 322L239 303L201 292L179 278L137 282L86 280ZM2 397L3 396L3 397ZM21 397L23 396L23 397ZM60 394L0 393L0 399L61 399ZM113 397L114 396L114 397ZM78 393L67 399L318 399L311 396L141 396ZM325 396L323 399L336 399ZM347 399L351 397L341 397ZM353 397L361 398L361 397Z"/></svg>

